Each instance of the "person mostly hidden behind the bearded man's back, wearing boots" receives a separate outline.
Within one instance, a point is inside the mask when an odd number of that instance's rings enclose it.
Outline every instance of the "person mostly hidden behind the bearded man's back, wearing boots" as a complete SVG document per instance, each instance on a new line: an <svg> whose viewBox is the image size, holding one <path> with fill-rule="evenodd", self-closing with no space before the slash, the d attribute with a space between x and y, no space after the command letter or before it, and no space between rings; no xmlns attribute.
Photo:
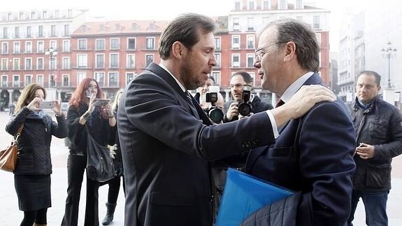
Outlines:
<svg viewBox="0 0 402 226"><path fill-rule="evenodd" d="M119 90L116 93L115 101L113 102L112 109L113 113L117 113L117 108L120 102L120 96L122 95L123 90ZM123 190L125 190L124 186L124 177L123 177L123 162L122 162L122 153L120 151L120 142L118 134L116 133L116 143L114 146L110 146L113 149L113 165L115 167L115 178L107 181L105 184L108 184L108 202L106 202L106 216L102 220L102 225L109 225L113 221L113 215L115 213L116 205L117 205L117 197L119 197L120 191L120 178L123 178Z"/></svg>

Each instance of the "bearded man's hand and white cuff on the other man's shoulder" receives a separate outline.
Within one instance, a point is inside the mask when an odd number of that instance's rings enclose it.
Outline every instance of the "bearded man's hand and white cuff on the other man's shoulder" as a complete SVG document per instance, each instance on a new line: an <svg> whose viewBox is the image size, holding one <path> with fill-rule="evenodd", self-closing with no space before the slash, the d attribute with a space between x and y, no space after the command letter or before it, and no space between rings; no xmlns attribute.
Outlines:
<svg viewBox="0 0 402 226"><path fill-rule="evenodd" d="M292 99L278 108L273 108L271 113L278 127L287 121L300 118L320 101L335 101L336 95L322 85L303 85Z"/></svg>

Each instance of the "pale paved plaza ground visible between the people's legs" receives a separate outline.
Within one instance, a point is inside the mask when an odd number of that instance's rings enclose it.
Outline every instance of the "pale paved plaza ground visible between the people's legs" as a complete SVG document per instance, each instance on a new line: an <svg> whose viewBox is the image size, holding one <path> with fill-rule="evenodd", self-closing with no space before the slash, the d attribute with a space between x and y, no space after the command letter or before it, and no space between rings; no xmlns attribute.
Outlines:
<svg viewBox="0 0 402 226"><path fill-rule="evenodd" d="M8 122L8 113L0 112L0 148L5 148L11 141L11 136L4 130ZM48 225L57 226L62 222L64 215L64 204L66 200L67 189L67 168L66 162L69 150L64 146L62 139L52 139L52 207L48 209ZM395 157L392 162L392 190L389 193L387 213L390 226L402 225L401 204L402 204L402 157ZM122 186L121 186L122 187ZM85 179L82 183L80 216L78 225L84 225L85 216ZM106 203L108 185L99 188L99 221L106 214ZM0 171L0 225L15 226L20 225L23 218L23 212L18 210L17 197L14 189L13 174ZM120 188L119 199L115 211L115 220L111 225L123 225L124 222L124 195ZM359 203L354 220L355 226L365 225L364 206ZM189 225L191 226L191 225Z"/></svg>

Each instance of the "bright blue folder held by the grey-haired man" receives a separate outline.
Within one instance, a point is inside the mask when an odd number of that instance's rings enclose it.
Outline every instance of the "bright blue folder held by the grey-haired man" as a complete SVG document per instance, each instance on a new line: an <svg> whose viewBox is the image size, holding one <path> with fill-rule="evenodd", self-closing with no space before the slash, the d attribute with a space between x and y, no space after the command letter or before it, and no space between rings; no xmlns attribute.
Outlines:
<svg viewBox="0 0 402 226"><path fill-rule="evenodd" d="M261 207L293 194L291 190L229 168L216 225L238 225Z"/></svg>

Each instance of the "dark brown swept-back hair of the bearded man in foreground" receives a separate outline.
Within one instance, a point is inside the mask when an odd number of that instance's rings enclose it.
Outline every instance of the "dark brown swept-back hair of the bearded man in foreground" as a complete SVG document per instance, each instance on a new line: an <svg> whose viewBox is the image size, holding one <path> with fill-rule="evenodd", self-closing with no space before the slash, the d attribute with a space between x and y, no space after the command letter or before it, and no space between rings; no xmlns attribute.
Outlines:
<svg viewBox="0 0 402 226"><path fill-rule="evenodd" d="M186 48L191 49L199 42L199 28L206 34L214 31L215 24L210 17L196 13L186 13L172 20L159 39L158 52L161 59L169 57L175 41L180 41Z"/></svg>

